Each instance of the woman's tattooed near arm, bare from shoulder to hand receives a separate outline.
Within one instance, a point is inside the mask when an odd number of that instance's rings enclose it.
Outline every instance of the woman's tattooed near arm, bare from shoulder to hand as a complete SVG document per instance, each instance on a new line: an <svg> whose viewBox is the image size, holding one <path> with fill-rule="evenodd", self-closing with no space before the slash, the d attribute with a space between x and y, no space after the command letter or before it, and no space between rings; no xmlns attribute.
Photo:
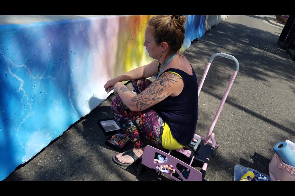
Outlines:
<svg viewBox="0 0 295 196"><path fill-rule="evenodd" d="M138 95L134 95L122 82L116 83L114 92L132 111L143 111L163 101L168 96L177 96L183 90L183 80L176 74L165 73Z"/></svg>

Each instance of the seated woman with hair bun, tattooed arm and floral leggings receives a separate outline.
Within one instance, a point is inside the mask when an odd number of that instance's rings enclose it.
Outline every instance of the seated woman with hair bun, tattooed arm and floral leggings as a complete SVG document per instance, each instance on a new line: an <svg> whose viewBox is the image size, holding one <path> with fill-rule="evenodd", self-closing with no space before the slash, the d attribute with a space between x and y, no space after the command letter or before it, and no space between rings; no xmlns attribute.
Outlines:
<svg viewBox="0 0 295 196"><path fill-rule="evenodd" d="M141 159L145 137L164 149L191 143L198 119L198 83L190 62L179 52L185 16L155 16L146 26L144 46L151 63L106 82L114 90L111 107L134 148L113 157L128 166ZM156 76L152 82L146 78ZM122 81L132 81L133 92Z"/></svg>

